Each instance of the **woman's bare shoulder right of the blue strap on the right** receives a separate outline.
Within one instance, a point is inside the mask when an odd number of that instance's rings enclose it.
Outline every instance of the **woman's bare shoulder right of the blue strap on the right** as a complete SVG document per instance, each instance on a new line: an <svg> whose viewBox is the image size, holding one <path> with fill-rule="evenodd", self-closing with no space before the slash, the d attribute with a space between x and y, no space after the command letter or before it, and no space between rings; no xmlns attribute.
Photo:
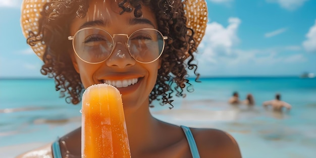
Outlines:
<svg viewBox="0 0 316 158"><path fill-rule="evenodd" d="M229 134L217 129L191 128L201 157L241 157L236 140Z"/></svg>

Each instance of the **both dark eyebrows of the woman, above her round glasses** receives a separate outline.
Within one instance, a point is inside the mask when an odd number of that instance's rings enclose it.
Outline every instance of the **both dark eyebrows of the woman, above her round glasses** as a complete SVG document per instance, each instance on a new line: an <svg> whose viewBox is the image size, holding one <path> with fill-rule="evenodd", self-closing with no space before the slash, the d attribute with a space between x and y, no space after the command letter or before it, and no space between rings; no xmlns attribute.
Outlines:
<svg viewBox="0 0 316 158"><path fill-rule="evenodd" d="M152 27L154 27L153 23L148 19L137 19L133 18L129 20L129 25L137 25L137 24L149 24ZM79 29L85 28L85 27L93 27L93 26L108 26L108 21L103 20L94 20L94 21L88 21L85 22L83 25L80 26Z"/></svg>

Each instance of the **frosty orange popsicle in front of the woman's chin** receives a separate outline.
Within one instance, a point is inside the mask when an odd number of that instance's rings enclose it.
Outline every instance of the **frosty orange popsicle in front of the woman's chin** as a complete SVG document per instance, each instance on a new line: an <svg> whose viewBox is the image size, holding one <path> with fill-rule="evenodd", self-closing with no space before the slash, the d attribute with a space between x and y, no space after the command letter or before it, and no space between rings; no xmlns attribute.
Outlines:
<svg viewBox="0 0 316 158"><path fill-rule="evenodd" d="M95 84L82 96L81 154L85 158L130 158L120 91Z"/></svg>

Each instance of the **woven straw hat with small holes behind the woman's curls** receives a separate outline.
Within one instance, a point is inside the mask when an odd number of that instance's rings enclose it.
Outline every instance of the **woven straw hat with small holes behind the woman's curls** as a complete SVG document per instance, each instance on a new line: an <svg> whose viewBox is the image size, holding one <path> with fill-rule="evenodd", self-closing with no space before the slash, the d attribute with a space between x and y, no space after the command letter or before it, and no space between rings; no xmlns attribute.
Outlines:
<svg viewBox="0 0 316 158"><path fill-rule="evenodd" d="M38 20L45 3L50 0L23 0L21 6L21 27L25 38L29 37L29 31L38 33ZM184 0L184 10L187 17L187 27L194 30L194 40L198 45L202 40L207 23L207 6L205 0ZM41 35L39 35L41 36ZM196 45L196 46L197 46ZM31 46L35 54L42 60L45 44L37 42Z"/></svg>

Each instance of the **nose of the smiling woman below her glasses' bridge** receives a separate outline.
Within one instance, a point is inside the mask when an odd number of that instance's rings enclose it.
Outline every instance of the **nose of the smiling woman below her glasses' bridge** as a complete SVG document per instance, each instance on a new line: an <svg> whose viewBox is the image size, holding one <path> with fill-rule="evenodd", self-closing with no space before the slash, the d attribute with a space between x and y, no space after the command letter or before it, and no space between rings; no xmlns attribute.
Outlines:
<svg viewBox="0 0 316 158"><path fill-rule="evenodd" d="M109 67L118 67L120 69L135 65L136 61L129 54L126 42L121 40L114 41L112 54L106 61L107 65Z"/></svg>

